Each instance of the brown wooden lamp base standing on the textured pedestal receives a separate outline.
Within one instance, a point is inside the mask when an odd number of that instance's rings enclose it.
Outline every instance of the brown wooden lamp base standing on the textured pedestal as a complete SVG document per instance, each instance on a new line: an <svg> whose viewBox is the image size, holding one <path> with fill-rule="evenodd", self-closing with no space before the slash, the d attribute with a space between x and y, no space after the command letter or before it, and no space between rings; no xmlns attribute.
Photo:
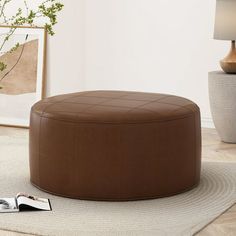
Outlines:
<svg viewBox="0 0 236 236"><path fill-rule="evenodd" d="M220 61L222 70L227 74L236 74L236 47L235 41L231 42L231 50L227 57Z"/></svg>

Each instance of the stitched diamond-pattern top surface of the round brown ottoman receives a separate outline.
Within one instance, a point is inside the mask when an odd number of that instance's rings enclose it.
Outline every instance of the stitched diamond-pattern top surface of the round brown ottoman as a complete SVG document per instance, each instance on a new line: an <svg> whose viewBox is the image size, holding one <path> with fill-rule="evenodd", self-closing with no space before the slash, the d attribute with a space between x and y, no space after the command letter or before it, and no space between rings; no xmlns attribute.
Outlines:
<svg viewBox="0 0 236 236"><path fill-rule="evenodd" d="M143 99L142 99L143 98ZM44 106L40 106L44 104ZM83 122L142 122L183 118L198 111L191 101L173 95L91 91L59 95L33 107L42 117ZM86 118L87 117L87 118Z"/></svg>

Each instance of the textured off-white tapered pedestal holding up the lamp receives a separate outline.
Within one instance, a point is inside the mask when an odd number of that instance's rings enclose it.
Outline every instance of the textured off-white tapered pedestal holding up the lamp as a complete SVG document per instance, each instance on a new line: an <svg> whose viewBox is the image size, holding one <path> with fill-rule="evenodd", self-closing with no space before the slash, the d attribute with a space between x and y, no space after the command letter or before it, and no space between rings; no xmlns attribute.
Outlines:
<svg viewBox="0 0 236 236"><path fill-rule="evenodd" d="M223 142L236 143L236 74L209 73L212 118Z"/></svg>

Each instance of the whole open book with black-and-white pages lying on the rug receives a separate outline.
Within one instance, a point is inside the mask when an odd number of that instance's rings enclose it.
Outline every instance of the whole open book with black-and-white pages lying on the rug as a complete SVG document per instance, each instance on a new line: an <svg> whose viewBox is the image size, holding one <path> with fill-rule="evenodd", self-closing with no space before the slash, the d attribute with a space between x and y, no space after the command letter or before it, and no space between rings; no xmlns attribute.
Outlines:
<svg viewBox="0 0 236 236"><path fill-rule="evenodd" d="M0 213L29 210L51 211L50 200L25 193L18 193L14 198L0 198Z"/></svg>

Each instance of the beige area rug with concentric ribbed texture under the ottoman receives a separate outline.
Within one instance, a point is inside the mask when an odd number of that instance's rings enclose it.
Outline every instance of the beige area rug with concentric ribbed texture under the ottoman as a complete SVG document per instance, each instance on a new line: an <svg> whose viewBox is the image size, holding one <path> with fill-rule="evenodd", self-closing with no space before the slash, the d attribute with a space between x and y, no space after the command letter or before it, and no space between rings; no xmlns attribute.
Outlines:
<svg viewBox="0 0 236 236"><path fill-rule="evenodd" d="M236 202L236 164L213 162L203 162L196 189L173 197L93 202L53 196L30 184L27 143L13 139L0 138L0 196L27 192L50 198L53 211L0 214L0 229L57 236L187 236Z"/></svg>

